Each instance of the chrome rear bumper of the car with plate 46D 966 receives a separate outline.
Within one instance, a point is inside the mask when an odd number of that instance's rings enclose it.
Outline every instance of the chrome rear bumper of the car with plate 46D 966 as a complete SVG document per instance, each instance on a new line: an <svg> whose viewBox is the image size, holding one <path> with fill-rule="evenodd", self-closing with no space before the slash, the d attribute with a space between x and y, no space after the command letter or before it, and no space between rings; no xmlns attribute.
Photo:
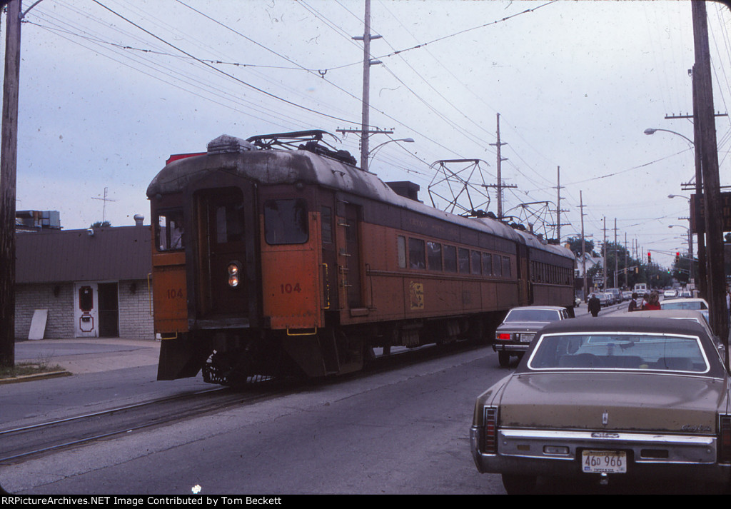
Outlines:
<svg viewBox="0 0 731 509"><path fill-rule="evenodd" d="M589 478L581 469L581 451L590 449L626 453L626 473L611 475L709 483L731 480L731 464L717 463L717 440L712 436L499 429L498 453L483 453L482 443L483 429L472 426L472 457L482 473Z"/></svg>

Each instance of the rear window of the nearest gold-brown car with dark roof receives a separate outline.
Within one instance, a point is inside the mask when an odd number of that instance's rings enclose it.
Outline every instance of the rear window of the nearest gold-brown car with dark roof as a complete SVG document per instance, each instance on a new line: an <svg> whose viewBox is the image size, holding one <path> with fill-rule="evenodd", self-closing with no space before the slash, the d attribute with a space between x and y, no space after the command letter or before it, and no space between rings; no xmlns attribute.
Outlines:
<svg viewBox="0 0 731 509"><path fill-rule="evenodd" d="M694 336L636 333L576 333L542 336L529 369L621 369L708 372L708 359Z"/></svg>

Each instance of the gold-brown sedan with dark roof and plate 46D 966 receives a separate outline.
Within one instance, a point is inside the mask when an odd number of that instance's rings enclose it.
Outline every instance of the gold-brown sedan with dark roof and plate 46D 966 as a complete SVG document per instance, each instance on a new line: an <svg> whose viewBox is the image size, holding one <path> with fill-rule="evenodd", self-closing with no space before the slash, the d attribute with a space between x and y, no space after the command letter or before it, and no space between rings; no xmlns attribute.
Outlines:
<svg viewBox="0 0 731 509"><path fill-rule="evenodd" d="M530 492L538 476L727 487L730 398L719 351L692 320L554 322L477 398L471 452L509 493Z"/></svg>

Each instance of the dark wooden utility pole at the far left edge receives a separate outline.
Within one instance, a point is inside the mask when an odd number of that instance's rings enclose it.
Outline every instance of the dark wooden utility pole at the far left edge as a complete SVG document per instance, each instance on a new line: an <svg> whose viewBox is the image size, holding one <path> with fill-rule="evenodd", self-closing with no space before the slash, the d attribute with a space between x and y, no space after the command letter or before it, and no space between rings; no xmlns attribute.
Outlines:
<svg viewBox="0 0 731 509"><path fill-rule="evenodd" d="M18 165L20 0L7 4L0 140L0 366L15 365L15 182Z"/></svg>

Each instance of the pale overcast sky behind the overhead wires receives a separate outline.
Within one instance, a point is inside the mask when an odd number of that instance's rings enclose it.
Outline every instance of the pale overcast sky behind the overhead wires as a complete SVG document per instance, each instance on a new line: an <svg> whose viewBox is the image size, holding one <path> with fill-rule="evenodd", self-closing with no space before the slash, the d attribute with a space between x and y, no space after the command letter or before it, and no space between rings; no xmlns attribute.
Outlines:
<svg viewBox="0 0 731 509"><path fill-rule="evenodd" d="M31 0L23 2L24 9ZM360 126L363 0L43 0L25 18L18 210L58 210L65 229L149 223L145 190L170 154L221 134ZM504 211L550 201L561 168L561 237L636 242L670 265L686 251L694 157L689 1L372 0L371 125L393 129L371 170L431 203L433 162L481 159ZM731 14L708 3L714 107L731 100ZM4 34L3 23L2 32ZM721 185L731 122L719 117ZM387 141L375 135L371 148ZM493 144L493 145L491 145ZM342 146L358 157L356 135ZM460 165L448 166L460 170ZM477 173L473 178L477 177ZM476 181L481 184L482 181ZM105 188L106 203L101 198ZM442 193L443 194L443 193ZM494 189L489 210L496 211ZM475 198L477 200L477 198ZM487 198L485 198L487 200ZM479 200L478 200L479 201ZM437 204L440 207L446 203ZM542 222L530 219L541 228ZM549 234L553 230L548 227ZM682 237L682 238L681 238Z"/></svg>

